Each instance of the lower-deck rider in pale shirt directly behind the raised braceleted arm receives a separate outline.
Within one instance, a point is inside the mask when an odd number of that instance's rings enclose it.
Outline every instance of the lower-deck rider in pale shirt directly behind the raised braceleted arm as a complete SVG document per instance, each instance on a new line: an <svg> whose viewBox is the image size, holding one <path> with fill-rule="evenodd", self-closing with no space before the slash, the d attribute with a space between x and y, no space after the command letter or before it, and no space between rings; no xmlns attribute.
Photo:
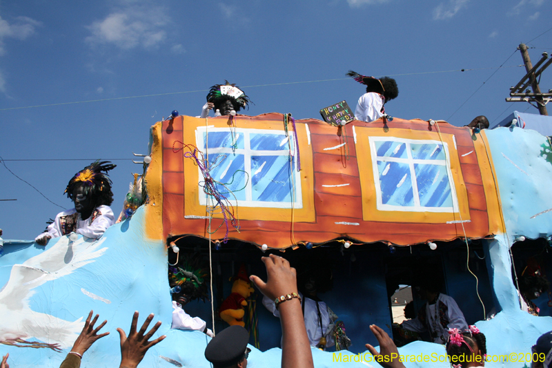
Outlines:
<svg viewBox="0 0 552 368"><path fill-rule="evenodd" d="M318 298L317 293L331 289L331 271L326 267L315 267L297 275L297 286L301 297L301 307L305 320L306 333L311 347L326 350L335 345L333 331L337 316ZM279 318L275 300L263 297L263 305Z"/></svg>

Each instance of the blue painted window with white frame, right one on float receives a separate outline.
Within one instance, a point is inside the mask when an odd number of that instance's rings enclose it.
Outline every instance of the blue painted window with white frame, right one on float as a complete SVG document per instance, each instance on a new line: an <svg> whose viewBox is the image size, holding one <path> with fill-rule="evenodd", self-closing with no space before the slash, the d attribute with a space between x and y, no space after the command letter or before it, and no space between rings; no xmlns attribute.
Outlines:
<svg viewBox="0 0 552 368"><path fill-rule="evenodd" d="M397 137L369 142L378 210L457 212L446 143Z"/></svg>

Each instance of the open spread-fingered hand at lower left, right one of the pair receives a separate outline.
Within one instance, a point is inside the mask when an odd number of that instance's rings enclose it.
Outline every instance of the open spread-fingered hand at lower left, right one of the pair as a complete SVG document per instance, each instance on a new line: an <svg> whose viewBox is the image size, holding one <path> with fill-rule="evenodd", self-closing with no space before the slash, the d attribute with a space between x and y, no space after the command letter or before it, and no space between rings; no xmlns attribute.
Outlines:
<svg viewBox="0 0 552 368"><path fill-rule="evenodd" d="M159 326L161 326L161 322L157 322L155 326L146 333L146 329L148 329L153 316L153 313L151 313L148 318L146 318L146 321L144 321L144 325L142 325L140 331L136 332L138 311L135 311L134 316L132 316L132 324L130 325L128 337L123 329L117 329L121 337L121 365L119 365L119 368L136 368L142 359L144 359L148 349L167 337L164 335L155 340L148 341L155 331L159 329ZM146 334L144 335L144 333Z"/></svg>

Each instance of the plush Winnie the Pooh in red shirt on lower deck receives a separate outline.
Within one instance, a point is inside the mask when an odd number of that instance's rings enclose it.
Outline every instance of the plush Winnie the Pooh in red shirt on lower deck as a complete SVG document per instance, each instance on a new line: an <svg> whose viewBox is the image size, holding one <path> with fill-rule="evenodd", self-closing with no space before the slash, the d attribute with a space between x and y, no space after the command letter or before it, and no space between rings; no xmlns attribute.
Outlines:
<svg viewBox="0 0 552 368"><path fill-rule="evenodd" d="M255 291L251 287L245 264L239 267L239 271L232 284L232 293L222 302L219 309L220 318L230 326L244 327L244 314L247 298Z"/></svg>

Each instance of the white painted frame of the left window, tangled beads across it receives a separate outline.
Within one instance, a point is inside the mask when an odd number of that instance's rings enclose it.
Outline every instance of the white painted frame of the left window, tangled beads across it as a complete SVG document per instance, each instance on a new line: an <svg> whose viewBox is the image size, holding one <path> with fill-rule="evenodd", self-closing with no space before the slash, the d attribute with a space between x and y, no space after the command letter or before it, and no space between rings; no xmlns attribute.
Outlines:
<svg viewBox="0 0 552 368"><path fill-rule="evenodd" d="M204 133L215 133L215 132L225 132L230 133L228 128L215 128L213 126L201 126L197 127L197 130L195 130L195 142L197 144L197 148L199 151L201 151L204 155L206 155L206 149L204 148ZM289 151L289 144L287 142L282 141L282 144L286 144L288 149L286 150L280 150L280 151L263 151L263 150L253 150L250 146L250 134L274 134L274 135L285 135L286 132L284 130L267 130L267 129L252 129L252 128L235 128L234 133L236 135L236 141L239 139L238 135L244 135L244 148L231 148L231 147L217 147L217 148L208 148L209 154L216 154L216 153L227 153L228 158L230 158L230 155L244 155L244 171L249 174L249 180L247 182L246 188L244 191L246 192L246 200L237 200L237 206L245 206L245 207L264 207L264 208L273 208L273 209L302 209L303 208L303 199L302 199L302 190L301 190L301 175L297 171L297 159L295 159L293 164L293 181L295 184L295 195L292 195L292 200L295 199L295 203L290 202L264 202L264 201L254 201L253 200L253 176L251 173L251 157L252 156L286 156L289 157L290 151ZM288 139L290 139L293 142L293 148L294 151L292 152L293 156L296 156L296 149L295 148L295 136L293 135L293 131L288 131ZM286 141L288 140L286 139ZM205 156L206 157L206 156ZM230 165L230 162L228 163L228 167ZM203 174L201 173L201 170L199 170L199 182L204 181ZM217 179L219 180L219 179ZM291 180L291 177L290 177ZM199 184L198 182L198 184ZM208 199L208 195L201 195L202 192L199 192L199 204L202 206L212 205L211 200ZM294 198L295 197L295 198ZM233 196L228 197L228 200L232 204L235 204L235 199Z"/></svg>

